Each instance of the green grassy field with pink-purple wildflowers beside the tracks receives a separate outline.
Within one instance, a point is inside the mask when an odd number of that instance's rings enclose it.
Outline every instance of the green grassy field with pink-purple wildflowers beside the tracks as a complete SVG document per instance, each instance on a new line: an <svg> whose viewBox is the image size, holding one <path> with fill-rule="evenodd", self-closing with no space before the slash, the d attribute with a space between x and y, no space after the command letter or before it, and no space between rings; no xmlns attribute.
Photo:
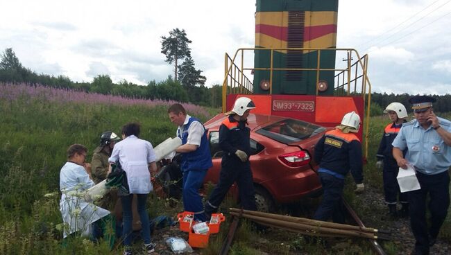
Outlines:
<svg viewBox="0 0 451 255"><path fill-rule="evenodd" d="M61 222L58 184L65 151L73 143L82 143L90 149L90 159L101 132L119 134L121 126L130 121L141 123L141 137L156 146L175 134L176 127L167 116L171 103L0 83L0 254L120 254L121 249L110 252L105 243L94 245L83 238L72 238L62 245L62 232L57 227ZM203 121L219 112L196 105L186 107L189 114ZM375 152L387 123L386 117L373 117L368 135L365 184L380 190L382 172L375 168ZM151 216L164 214L167 204L153 199ZM448 217L442 233L451 233L450 222ZM253 254L258 236L249 234L246 225L241 229L241 241L234 245L232 254ZM301 239L294 236L288 243L267 246L290 254L296 246L304 245L299 243ZM205 254L215 254L220 243L216 239L211 246ZM311 249L313 254L325 252Z"/></svg>

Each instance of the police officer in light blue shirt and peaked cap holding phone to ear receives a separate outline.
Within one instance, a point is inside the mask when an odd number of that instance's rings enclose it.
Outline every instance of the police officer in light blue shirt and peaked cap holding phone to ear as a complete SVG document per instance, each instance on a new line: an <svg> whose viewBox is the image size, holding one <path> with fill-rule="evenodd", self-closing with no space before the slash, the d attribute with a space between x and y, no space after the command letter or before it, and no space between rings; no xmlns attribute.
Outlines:
<svg viewBox="0 0 451 255"><path fill-rule="evenodd" d="M415 119L404 123L393 141L393 157L398 166L414 166L420 189L410 191L410 225L416 238L412 254L429 254L450 205L451 122L439 118L432 110L436 100L430 96L409 99ZM402 150L407 148L405 157ZM426 220L426 200L429 193L430 224Z"/></svg>

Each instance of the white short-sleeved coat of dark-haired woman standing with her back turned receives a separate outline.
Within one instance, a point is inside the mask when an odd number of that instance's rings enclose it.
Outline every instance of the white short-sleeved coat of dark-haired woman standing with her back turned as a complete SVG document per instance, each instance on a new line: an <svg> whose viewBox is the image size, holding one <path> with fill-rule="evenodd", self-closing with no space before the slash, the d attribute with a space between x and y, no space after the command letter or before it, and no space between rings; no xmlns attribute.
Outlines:
<svg viewBox="0 0 451 255"><path fill-rule="evenodd" d="M119 159L122 169L127 173L130 194L148 194L153 190L148 164L155 161L152 144L134 135L126 137L114 145L110 163Z"/></svg>

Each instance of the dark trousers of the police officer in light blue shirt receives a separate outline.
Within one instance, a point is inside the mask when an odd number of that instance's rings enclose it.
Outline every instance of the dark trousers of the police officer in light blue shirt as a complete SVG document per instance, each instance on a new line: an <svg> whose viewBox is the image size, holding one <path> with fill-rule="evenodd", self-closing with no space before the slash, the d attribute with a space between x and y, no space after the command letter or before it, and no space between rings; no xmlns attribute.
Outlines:
<svg viewBox="0 0 451 255"><path fill-rule="evenodd" d="M410 203L410 225L416 239L415 247L423 254L429 253L429 236L436 238L440 227L445 221L450 206L450 176L448 171L437 175L423 175L416 173L421 189L409 192ZM426 200L429 193L429 204L431 213L430 227L427 227Z"/></svg>

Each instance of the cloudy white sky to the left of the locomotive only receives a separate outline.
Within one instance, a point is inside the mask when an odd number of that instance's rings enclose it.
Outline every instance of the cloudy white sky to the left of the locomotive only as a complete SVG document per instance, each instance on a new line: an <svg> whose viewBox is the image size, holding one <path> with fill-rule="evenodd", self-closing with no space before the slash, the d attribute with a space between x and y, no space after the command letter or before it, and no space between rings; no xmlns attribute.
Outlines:
<svg viewBox="0 0 451 255"><path fill-rule="evenodd" d="M3 6L8 12L0 16L0 51L12 47L26 67L78 81L92 80L96 71L109 71L115 82L167 78L173 66L164 62L160 37L180 28L211 85L222 80L224 52L253 43L253 1L18 0ZM58 68L40 68L33 59Z"/></svg>

